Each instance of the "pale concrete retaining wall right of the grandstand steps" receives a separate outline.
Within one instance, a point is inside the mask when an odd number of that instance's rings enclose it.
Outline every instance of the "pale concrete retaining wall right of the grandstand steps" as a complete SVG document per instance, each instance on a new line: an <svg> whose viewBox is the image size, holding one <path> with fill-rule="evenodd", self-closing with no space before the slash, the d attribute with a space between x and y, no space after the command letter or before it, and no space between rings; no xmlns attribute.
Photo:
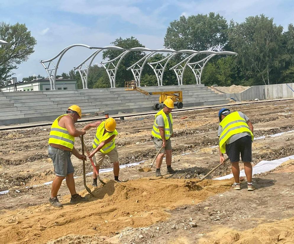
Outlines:
<svg viewBox="0 0 294 244"><path fill-rule="evenodd" d="M289 86L289 87L288 87ZM241 102L245 100L294 98L294 83L274 84L274 85L254 85L241 93L227 93L226 98L234 98Z"/></svg>

